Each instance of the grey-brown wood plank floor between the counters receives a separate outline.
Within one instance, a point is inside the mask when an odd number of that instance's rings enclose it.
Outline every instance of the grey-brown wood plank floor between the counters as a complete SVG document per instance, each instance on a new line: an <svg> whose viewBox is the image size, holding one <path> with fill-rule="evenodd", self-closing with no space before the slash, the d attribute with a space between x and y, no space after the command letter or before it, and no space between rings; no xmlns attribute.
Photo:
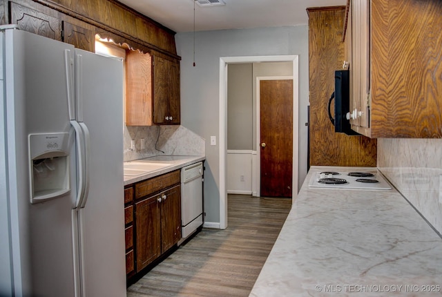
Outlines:
<svg viewBox="0 0 442 297"><path fill-rule="evenodd" d="M127 290L128 297L249 296L291 207L229 195L229 227L202 229Z"/></svg>

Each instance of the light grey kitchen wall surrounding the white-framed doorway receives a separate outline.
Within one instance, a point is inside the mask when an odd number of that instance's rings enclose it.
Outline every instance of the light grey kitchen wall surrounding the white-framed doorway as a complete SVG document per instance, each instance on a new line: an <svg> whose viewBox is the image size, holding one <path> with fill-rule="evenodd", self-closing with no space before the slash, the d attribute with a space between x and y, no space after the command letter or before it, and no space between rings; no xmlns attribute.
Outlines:
<svg viewBox="0 0 442 297"><path fill-rule="evenodd" d="M299 172L301 185L307 174L307 105L309 79L308 26L218 30L175 35L181 61L182 126L206 140L219 138L220 57L299 55ZM218 144L218 142L217 142ZM206 222L220 222L219 147L206 142L204 211Z"/></svg>

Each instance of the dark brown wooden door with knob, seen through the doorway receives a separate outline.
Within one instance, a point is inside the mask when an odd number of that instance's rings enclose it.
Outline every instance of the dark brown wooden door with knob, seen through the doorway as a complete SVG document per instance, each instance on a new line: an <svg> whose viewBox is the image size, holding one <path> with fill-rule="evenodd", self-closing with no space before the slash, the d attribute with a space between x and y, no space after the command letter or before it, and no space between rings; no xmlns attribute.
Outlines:
<svg viewBox="0 0 442 297"><path fill-rule="evenodd" d="M256 101L260 194L291 198L293 183L293 79L258 77Z"/></svg>

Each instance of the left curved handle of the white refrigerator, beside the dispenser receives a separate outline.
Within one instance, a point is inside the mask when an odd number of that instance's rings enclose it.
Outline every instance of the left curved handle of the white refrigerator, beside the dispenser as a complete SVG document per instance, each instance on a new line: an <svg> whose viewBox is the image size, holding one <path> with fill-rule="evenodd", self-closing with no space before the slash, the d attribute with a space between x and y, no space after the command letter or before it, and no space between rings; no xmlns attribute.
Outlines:
<svg viewBox="0 0 442 297"><path fill-rule="evenodd" d="M78 189L77 189L77 198L75 199L75 208L79 207L79 204L82 200L84 200L84 193L86 189L86 180L85 180L85 148L84 148L84 133L80 124L71 120L70 124L73 126L75 130L75 139L77 144L77 169L78 169Z"/></svg>

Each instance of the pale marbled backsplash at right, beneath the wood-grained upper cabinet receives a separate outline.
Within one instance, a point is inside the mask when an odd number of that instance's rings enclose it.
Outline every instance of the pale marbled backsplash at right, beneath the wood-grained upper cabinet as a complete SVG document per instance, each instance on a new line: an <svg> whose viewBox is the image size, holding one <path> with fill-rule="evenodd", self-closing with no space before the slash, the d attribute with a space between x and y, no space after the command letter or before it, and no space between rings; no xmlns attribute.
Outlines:
<svg viewBox="0 0 442 297"><path fill-rule="evenodd" d="M377 166L442 233L442 140L380 138Z"/></svg>

